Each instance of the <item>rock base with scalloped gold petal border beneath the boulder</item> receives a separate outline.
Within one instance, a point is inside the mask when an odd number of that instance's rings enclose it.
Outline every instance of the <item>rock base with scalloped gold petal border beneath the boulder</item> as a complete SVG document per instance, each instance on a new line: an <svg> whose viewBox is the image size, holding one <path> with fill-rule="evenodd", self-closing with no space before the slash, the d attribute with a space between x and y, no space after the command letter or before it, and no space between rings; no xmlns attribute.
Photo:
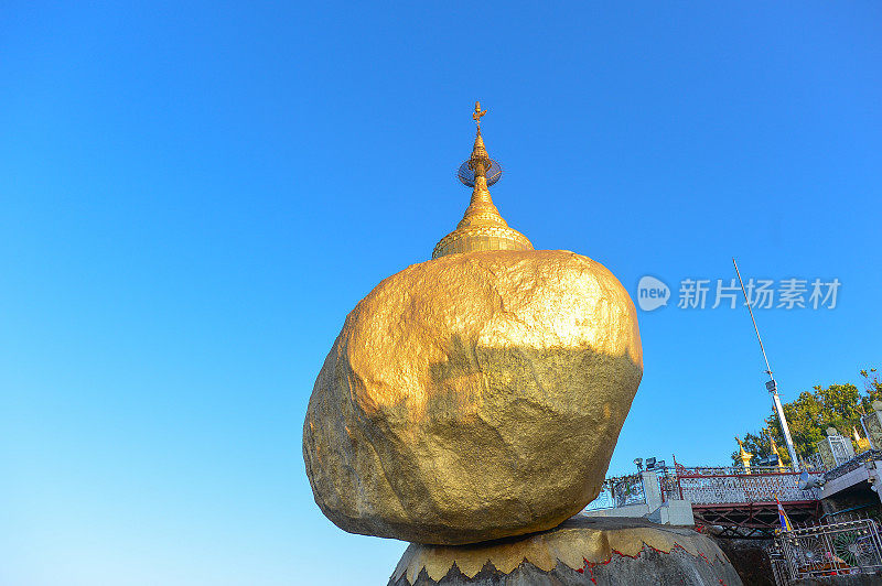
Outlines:
<svg viewBox="0 0 882 586"><path fill-rule="evenodd" d="M741 586L708 536L642 519L574 517L521 538L472 545L411 543L389 586Z"/></svg>

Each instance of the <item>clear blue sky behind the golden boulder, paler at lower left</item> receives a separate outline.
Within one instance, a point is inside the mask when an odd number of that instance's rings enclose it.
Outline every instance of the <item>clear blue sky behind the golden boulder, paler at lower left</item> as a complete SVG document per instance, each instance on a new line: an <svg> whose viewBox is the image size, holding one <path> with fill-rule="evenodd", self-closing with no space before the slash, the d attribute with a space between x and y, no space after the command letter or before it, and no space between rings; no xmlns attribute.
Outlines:
<svg viewBox="0 0 882 586"><path fill-rule="evenodd" d="M537 248L632 295L838 278L757 315L784 398L882 367L876 2L85 4L0 9L0 584L385 584L405 546L322 517L303 414L460 219L475 99ZM641 330L611 471L725 463L770 409L746 314Z"/></svg>

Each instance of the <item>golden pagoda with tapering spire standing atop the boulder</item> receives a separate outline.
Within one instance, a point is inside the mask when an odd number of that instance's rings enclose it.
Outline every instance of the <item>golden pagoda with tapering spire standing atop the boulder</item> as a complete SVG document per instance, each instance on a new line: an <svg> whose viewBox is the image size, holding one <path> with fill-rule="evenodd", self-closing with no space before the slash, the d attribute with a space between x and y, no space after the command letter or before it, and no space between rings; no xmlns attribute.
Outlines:
<svg viewBox="0 0 882 586"><path fill-rule="evenodd" d="M432 251L433 259L475 250L533 250L533 243L526 236L508 227L491 199L487 187L499 180L502 169L499 163L487 154L484 139L481 137L481 117L485 113L487 110L482 110L481 102L476 101L472 115L477 123L475 144L472 156L460 166L458 173L464 185L473 187L472 202L456 225L456 229L435 245Z"/></svg>

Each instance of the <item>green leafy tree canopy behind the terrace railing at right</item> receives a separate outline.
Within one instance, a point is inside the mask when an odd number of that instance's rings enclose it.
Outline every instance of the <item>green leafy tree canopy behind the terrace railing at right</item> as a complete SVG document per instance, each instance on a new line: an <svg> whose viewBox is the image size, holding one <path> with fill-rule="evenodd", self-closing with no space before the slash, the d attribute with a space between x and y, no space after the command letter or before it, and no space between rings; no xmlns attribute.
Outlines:
<svg viewBox="0 0 882 586"><path fill-rule="evenodd" d="M799 459L807 458L816 452L815 444L824 438L827 427L836 427L840 434L849 437L852 427L861 430L861 415L872 411L873 401L882 400L882 381L879 380L875 368L861 370L860 376L863 389L850 382L829 387L818 384L811 391L803 391L789 403L784 403L784 416L787 417ZM768 456L771 434L778 445L782 462L789 464L790 455L787 453L777 413L772 410L772 414L764 423L762 430L744 435L744 449L759 458ZM738 451L732 453L732 462L741 464Z"/></svg>

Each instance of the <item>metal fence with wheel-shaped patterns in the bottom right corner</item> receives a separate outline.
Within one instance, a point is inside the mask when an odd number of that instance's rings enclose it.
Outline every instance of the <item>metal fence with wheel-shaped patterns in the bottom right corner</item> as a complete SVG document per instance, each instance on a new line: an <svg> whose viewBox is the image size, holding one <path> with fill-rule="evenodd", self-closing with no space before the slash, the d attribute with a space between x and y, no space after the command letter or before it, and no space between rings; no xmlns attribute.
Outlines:
<svg viewBox="0 0 882 586"><path fill-rule="evenodd" d="M770 557L778 585L819 576L880 574L882 540L872 519L808 527L779 533Z"/></svg>

